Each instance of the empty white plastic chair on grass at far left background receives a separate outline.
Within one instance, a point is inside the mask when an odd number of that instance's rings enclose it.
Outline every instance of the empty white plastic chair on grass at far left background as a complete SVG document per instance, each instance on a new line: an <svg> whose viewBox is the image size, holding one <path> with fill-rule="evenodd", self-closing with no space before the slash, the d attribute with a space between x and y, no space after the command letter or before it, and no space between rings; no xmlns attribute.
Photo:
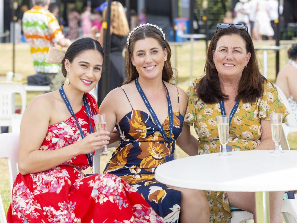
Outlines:
<svg viewBox="0 0 297 223"><path fill-rule="evenodd" d="M15 114L14 94L19 93L22 100L21 114ZM15 123L20 123L22 114L26 108L26 89L21 83L17 82L0 82L0 127L9 126L9 131L12 128L12 118L16 120L13 122L14 129L18 132L19 126ZM1 133L1 129L0 129Z"/></svg>

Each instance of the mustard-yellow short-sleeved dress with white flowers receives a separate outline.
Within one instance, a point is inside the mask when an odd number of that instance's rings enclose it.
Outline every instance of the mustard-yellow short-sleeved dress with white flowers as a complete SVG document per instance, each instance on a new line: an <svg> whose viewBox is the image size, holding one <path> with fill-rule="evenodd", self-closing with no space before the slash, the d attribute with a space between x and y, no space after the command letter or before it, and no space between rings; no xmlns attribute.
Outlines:
<svg viewBox="0 0 297 223"><path fill-rule="evenodd" d="M199 138L199 154L217 153L220 142L216 117L221 114L220 104L206 104L196 92L196 87L203 76L192 82L187 90L188 107L184 123L193 125ZM270 81L263 84L263 97L254 103L243 103L231 120L228 144L231 151L254 150L261 143L261 120L269 120L271 112L283 113L283 122L289 114L279 100L277 91ZM226 192L205 191L210 210L210 222L227 222L230 218L230 207Z"/></svg>

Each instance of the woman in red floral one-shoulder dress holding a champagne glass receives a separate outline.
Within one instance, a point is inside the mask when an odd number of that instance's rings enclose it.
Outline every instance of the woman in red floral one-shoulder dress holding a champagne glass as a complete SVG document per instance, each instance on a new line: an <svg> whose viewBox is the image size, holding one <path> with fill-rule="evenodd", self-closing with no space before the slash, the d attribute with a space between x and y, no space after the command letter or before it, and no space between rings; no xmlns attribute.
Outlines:
<svg viewBox="0 0 297 223"><path fill-rule="evenodd" d="M23 115L20 173L7 222L163 222L121 178L82 173L92 166L93 152L110 139L107 131L92 133L91 116L98 107L86 93L101 77L104 54L91 38L77 40L65 55L59 54L54 58L64 57L65 84L34 98Z"/></svg>

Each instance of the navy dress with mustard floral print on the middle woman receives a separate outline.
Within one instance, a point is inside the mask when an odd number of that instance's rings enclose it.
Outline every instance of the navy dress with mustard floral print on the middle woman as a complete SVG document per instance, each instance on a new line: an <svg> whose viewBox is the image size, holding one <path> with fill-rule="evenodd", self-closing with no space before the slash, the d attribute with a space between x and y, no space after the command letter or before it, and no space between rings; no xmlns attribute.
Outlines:
<svg viewBox="0 0 297 223"><path fill-rule="evenodd" d="M183 120L179 112L173 112L173 153ZM162 126L169 137L168 117ZM168 188L154 178L156 167L165 163L165 156L169 154L156 124L146 112L132 110L119 121L116 128L120 144L104 172L120 176L129 183L163 217L164 222L177 223L181 192Z"/></svg>

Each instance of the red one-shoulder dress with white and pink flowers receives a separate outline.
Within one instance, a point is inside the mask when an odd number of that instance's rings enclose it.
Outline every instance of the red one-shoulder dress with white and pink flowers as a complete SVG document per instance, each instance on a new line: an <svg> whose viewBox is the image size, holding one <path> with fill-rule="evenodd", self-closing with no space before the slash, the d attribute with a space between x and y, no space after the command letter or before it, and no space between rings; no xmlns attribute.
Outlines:
<svg viewBox="0 0 297 223"><path fill-rule="evenodd" d="M94 113L97 104L89 94L86 96ZM75 115L84 134L89 134L85 107ZM94 127L93 120L92 125ZM40 150L56 150L79 140L80 131L70 117L48 127ZM43 172L18 174L7 222L163 222L124 180L112 174L86 177L80 169L87 167L86 155L79 155Z"/></svg>

